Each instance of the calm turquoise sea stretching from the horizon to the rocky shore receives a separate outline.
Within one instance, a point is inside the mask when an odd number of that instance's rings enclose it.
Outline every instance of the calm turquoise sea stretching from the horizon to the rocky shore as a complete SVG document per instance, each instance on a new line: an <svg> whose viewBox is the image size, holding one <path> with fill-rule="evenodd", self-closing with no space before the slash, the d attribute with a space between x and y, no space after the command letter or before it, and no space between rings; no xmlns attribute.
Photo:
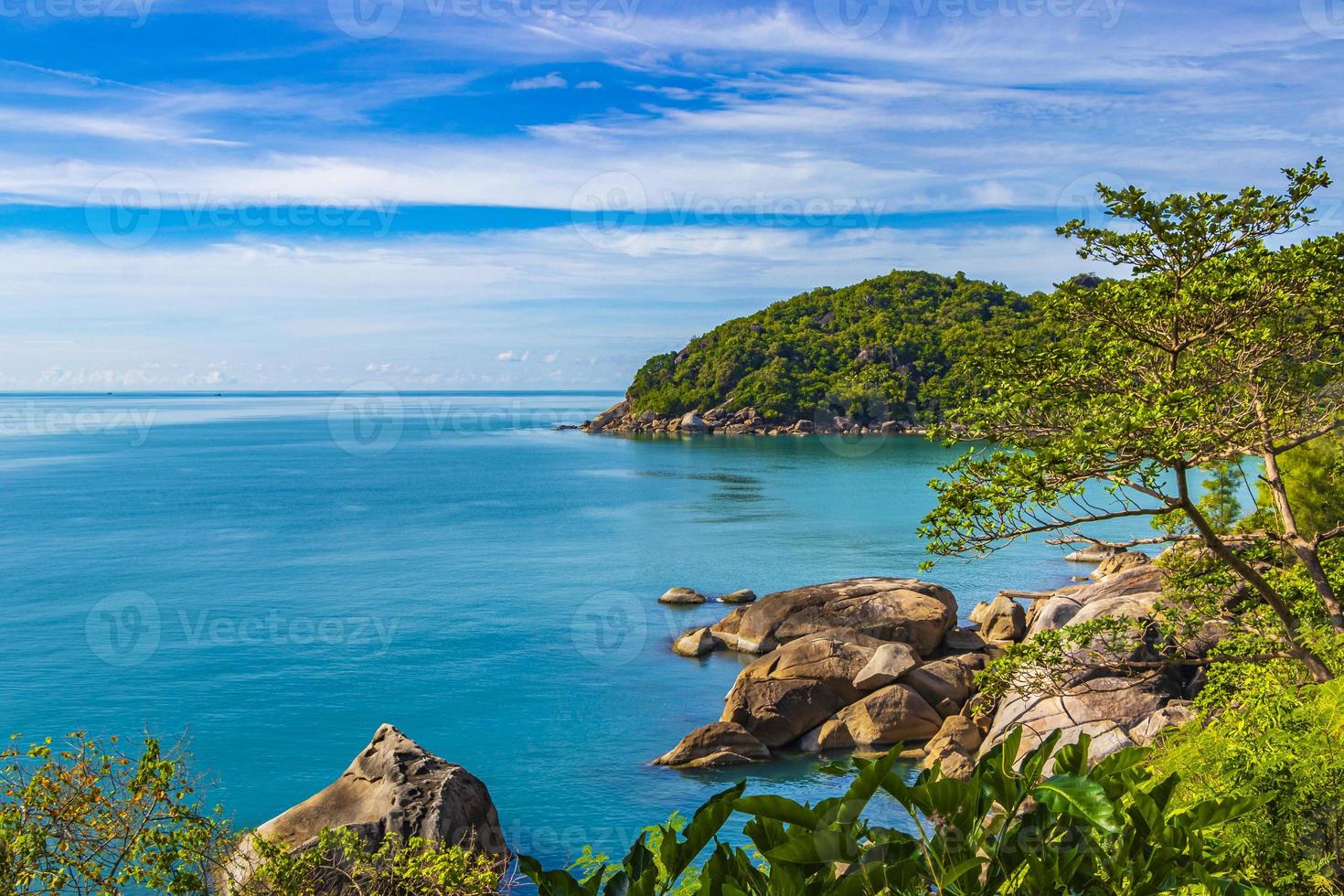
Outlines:
<svg viewBox="0 0 1344 896"><path fill-rule="evenodd" d="M554 430L613 400L0 396L0 727L185 731L214 798L257 823L388 721L481 776L511 842L555 864L741 776L833 793L805 760L648 764L718 717L742 665L668 649L722 606L656 599L918 575L952 454ZM1066 583L1062 553L1017 544L927 578L965 614Z"/></svg>

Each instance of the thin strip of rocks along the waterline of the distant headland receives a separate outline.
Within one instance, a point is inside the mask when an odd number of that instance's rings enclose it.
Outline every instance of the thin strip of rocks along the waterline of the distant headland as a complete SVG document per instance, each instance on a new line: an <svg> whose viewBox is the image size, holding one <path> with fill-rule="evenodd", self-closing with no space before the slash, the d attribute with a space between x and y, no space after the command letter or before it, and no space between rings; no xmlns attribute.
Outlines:
<svg viewBox="0 0 1344 896"><path fill-rule="evenodd" d="M754 407L730 411L724 407L688 411L672 416L653 411L634 412L624 400L602 411L579 427L589 433L667 433L716 435L896 435L922 434L926 430L902 420L856 420L824 415L818 419L785 420L762 416Z"/></svg>

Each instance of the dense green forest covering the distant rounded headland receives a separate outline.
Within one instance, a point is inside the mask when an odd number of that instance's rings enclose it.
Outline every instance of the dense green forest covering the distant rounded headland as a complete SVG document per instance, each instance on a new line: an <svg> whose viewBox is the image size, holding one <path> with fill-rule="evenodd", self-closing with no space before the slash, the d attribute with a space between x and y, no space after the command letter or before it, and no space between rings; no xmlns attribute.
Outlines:
<svg viewBox="0 0 1344 896"><path fill-rule="evenodd" d="M1040 326L999 283L892 271L727 321L634 375L634 411L755 407L767 418L917 419L974 391L978 347Z"/></svg>

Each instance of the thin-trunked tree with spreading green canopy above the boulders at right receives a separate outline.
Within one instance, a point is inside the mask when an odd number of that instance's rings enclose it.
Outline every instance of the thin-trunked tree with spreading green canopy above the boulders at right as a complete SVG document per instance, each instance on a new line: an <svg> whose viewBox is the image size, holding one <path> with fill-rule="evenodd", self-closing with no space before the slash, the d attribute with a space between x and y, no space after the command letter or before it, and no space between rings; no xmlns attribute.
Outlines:
<svg viewBox="0 0 1344 896"><path fill-rule="evenodd" d="M1329 185L1324 160L1285 169L1288 189L1246 188L1150 199L1098 184L1121 228L1074 220L1060 235L1129 279L1075 281L1043 300L1067 336L1009 341L993 382L956 414L972 449L933 484L922 535L938 555L985 552L1032 533L1099 541L1091 524L1175 513L1188 520L1140 543L1191 540L1273 609L1286 650L1317 681L1332 677L1293 602L1243 559L1198 492L1200 470L1258 457L1278 539L1310 574L1335 631L1344 614L1320 549L1344 535L1305 535L1279 458L1336 430L1344 403L1344 238L1270 249L1312 223ZM1099 493L1103 488L1106 494Z"/></svg>

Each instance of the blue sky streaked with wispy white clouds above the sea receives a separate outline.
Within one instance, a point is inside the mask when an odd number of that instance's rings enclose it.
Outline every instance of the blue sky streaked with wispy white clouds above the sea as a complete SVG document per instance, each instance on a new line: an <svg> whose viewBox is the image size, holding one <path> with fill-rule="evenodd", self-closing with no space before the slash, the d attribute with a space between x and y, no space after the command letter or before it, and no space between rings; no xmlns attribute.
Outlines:
<svg viewBox="0 0 1344 896"><path fill-rule="evenodd" d="M1344 0L0 0L0 390L624 388L1048 289L1097 181L1344 175L1341 83Z"/></svg>

